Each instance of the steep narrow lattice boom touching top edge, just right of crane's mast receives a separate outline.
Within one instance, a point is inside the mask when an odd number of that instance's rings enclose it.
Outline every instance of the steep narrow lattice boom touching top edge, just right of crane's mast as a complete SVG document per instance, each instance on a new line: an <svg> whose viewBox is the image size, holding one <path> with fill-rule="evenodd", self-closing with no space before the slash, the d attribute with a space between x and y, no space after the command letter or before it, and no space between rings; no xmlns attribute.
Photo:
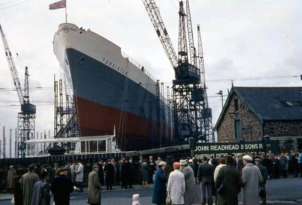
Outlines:
<svg viewBox="0 0 302 205"><path fill-rule="evenodd" d="M186 0L186 15L187 15L189 51L190 51L190 60L191 60L190 63L193 64L194 66L197 66L196 51L195 51L195 47L194 47L193 28L192 28L192 20L191 20L189 0Z"/></svg>

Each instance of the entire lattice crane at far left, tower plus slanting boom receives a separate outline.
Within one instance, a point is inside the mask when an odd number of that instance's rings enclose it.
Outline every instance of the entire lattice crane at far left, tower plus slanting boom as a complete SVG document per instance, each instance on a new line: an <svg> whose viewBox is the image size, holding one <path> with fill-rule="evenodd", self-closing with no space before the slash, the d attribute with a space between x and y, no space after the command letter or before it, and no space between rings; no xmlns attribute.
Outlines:
<svg viewBox="0 0 302 205"><path fill-rule="evenodd" d="M18 113L18 157L25 157L27 152L25 141L34 138L36 106L31 104L29 100L28 68L25 67L24 91L23 91L12 53L1 25L0 25L0 32L3 40L3 46L8 60L9 68L21 104L21 112Z"/></svg>

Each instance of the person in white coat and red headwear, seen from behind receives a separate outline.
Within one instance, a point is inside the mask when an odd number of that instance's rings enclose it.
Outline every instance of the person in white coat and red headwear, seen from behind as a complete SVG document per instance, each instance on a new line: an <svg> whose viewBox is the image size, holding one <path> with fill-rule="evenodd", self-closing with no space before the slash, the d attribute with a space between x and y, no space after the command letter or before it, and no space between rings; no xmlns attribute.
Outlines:
<svg viewBox="0 0 302 205"><path fill-rule="evenodd" d="M170 173L167 185L168 197L170 196L173 205L184 204L184 194L186 191L185 176L179 170L179 162L174 162L173 168L174 171Z"/></svg>

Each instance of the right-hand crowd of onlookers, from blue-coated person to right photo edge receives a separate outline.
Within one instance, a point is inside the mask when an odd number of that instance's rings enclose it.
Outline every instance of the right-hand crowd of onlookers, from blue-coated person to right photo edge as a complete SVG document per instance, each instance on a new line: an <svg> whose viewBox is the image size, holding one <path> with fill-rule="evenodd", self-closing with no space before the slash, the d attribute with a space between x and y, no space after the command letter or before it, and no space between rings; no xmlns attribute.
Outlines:
<svg viewBox="0 0 302 205"><path fill-rule="evenodd" d="M238 204L240 192L243 204L259 204L259 198L266 204L266 180L281 174L286 178L289 172L302 177L302 153L247 152L244 156L230 154L218 159L203 157L201 163L196 158L180 160L173 163L169 178L166 166L161 162L155 174L154 204L193 204L197 202L196 183L200 183L201 204L213 204L213 196L215 204Z"/></svg>

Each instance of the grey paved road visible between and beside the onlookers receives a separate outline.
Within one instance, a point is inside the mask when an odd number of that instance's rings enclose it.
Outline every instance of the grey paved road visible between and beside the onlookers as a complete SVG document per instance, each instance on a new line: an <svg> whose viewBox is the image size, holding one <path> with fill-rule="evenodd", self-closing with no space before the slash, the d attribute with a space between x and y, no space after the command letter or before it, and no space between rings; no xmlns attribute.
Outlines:
<svg viewBox="0 0 302 205"><path fill-rule="evenodd" d="M271 204L302 204L301 194L302 177L287 179L273 179L267 181L267 198ZM198 198L200 198L200 188L197 185ZM118 191L118 192L104 192L102 193L102 204L110 205L130 205L131 196L134 193L140 194L140 204L149 205L152 204L152 189L141 189ZM88 194L71 195L70 204L72 205L83 205L86 204L86 198ZM241 199L241 193L239 194ZM0 201L0 204L9 205L11 204L8 200ZM51 203L52 204L52 203ZM198 204L198 203L196 203Z"/></svg>

